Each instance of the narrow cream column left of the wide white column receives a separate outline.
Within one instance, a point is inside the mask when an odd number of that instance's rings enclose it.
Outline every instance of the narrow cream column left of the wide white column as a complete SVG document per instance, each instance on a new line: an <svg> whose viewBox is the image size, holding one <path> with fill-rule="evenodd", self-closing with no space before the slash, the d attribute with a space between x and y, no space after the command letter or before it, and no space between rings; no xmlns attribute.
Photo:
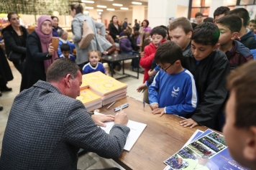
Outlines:
<svg viewBox="0 0 256 170"><path fill-rule="evenodd" d="M129 19L129 23L132 23L134 27L134 19L137 19L137 22L141 22L145 19L145 6L134 5L132 6L132 21Z"/></svg>

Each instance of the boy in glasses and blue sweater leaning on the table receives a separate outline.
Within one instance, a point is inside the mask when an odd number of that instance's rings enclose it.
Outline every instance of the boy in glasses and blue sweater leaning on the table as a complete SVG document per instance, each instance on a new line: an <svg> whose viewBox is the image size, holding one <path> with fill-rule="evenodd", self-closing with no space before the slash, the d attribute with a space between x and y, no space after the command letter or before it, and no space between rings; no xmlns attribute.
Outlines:
<svg viewBox="0 0 256 170"><path fill-rule="evenodd" d="M157 49L155 62L161 70L148 90L153 114L186 115L196 110L195 81L191 72L182 67L182 57L182 49L175 42L164 42Z"/></svg>

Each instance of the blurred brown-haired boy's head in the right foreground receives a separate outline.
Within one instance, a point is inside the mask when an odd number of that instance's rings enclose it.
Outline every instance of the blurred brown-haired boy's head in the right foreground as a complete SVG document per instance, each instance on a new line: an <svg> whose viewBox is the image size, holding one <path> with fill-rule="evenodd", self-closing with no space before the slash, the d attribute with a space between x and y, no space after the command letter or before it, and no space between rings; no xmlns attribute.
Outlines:
<svg viewBox="0 0 256 170"><path fill-rule="evenodd" d="M248 62L227 77L230 90L223 128L229 153L239 164L256 169L256 61Z"/></svg>

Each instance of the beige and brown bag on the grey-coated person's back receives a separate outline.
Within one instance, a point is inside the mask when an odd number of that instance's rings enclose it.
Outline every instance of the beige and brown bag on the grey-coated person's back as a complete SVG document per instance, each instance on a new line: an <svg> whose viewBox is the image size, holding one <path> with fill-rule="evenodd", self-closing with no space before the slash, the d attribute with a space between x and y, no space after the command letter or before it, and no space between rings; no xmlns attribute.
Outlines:
<svg viewBox="0 0 256 170"><path fill-rule="evenodd" d="M80 42L78 42L79 48L86 49L89 46L89 44L91 43L91 40L93 39L94 36L95 36L95 34L94 34L93 30L88 25L86 20L84 20L83 25L82 25L82 39Z"/></svg>

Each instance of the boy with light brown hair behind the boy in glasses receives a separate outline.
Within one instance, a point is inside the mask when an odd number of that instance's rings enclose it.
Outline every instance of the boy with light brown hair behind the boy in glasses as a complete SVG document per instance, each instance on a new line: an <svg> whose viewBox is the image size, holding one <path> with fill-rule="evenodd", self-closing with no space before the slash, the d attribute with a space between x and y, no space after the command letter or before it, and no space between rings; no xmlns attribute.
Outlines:
<svg viewBox="0 0 256 170"><path fill-rule="evenodd" d="M173 42L176 42L177 44L180 45L180 48L183 51L183 55L187 55L187 53L191 49L191 35L193 32L193 28L191 26L191 22L185 18L185 17L180 17L177 19L174 19L172 23L169 25L169 36L170 39ZM139 88L137 88L137 91L144 91L149 87L154 80L155 75L157 72L160 70L155 70L155 74L150 77L144 84L140 85Z"/></svg>

